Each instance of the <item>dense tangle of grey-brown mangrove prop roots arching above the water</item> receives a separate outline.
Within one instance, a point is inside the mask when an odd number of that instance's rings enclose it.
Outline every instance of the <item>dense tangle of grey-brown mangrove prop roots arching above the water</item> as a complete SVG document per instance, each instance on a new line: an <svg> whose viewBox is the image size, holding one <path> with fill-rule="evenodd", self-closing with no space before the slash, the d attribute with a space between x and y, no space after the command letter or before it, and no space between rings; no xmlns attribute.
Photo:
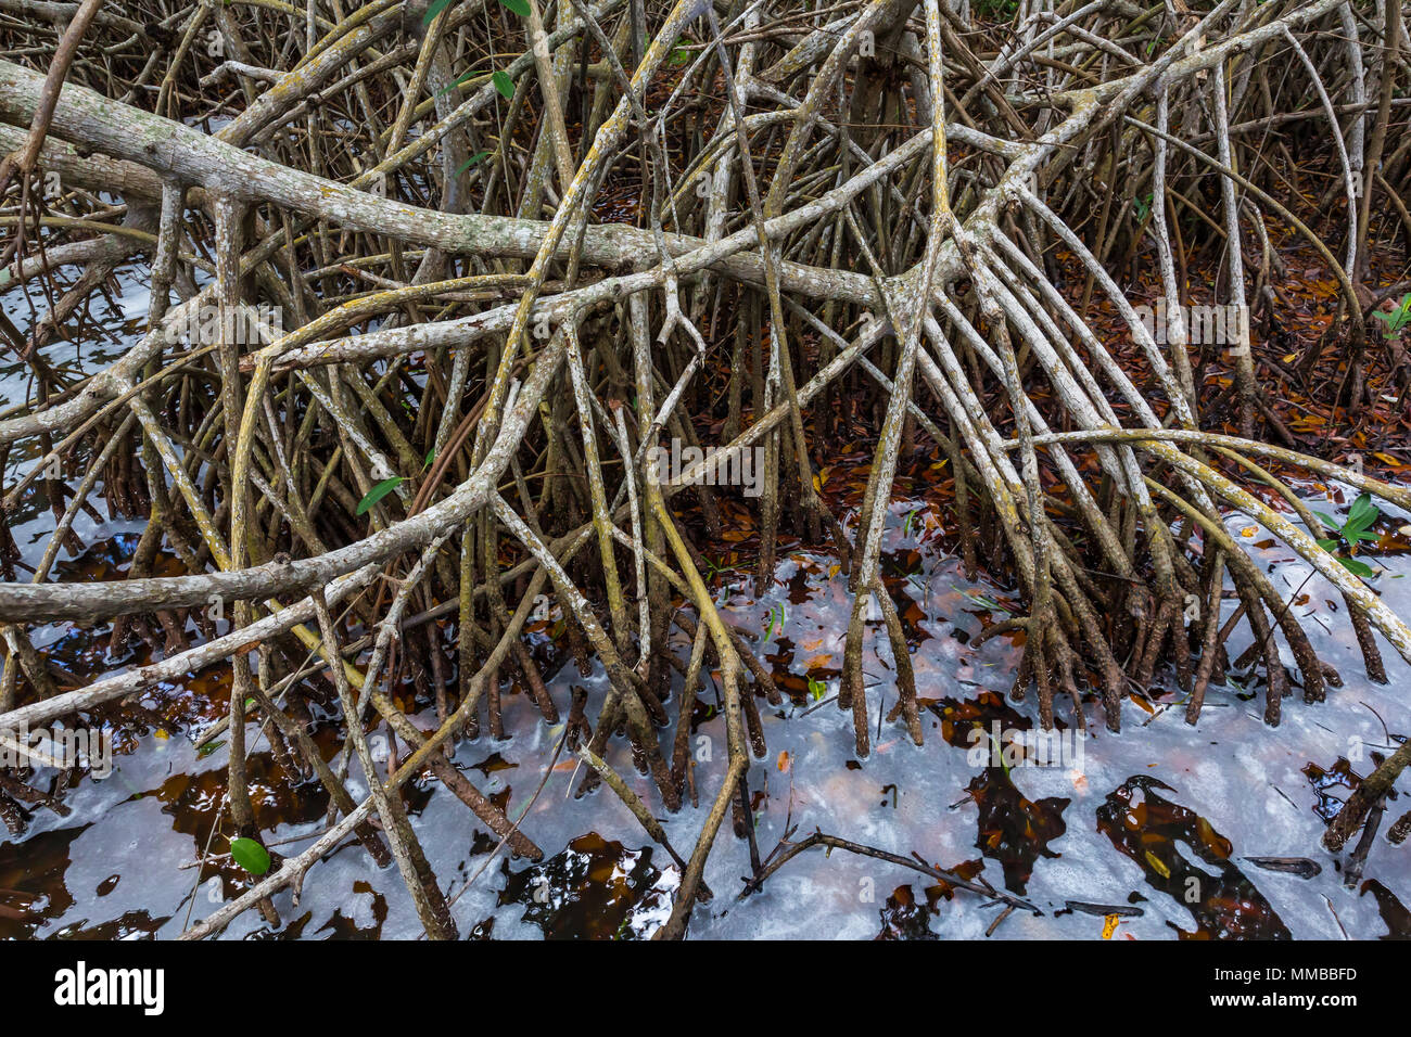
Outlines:
<svg viewBox="0 0 1411 1037"><path fill-rule="evenodd" d="M1225 295L1209 302L1243 310L1266 279L1261 268L1246 285L1245 247L1267 253L1266 224L1308 240L1343 302L1339 392L1360 405L1384 360L1360 320L1371 199L1405 196L1411 174L1394 148L1395 0L1380 30L1346 0L1226 0L1181 17L1040 3L1009 23L969 23L940 0L845 0L818 16L559 0L531 3L508 37L511 21L487 21L483 3L418 24L425 7L329 20L285 4L213 17L172 0L123 14L85 0L0 21L0 291L23 286L34 310L28 332L0 326L0 346L35 385L0 413L0 450L32 459L4 487L3 514L34 502L56 522L34 571L0 529L0 736L230 666L234 827L260 835L248 720L272 720L281 759L306 758L332 797L317 842L188 937L272 910L271 895L298 890L349 837L395 862L430 935L453 937L401 789L430 773L538 859L532 832L450 762L459 739L509 731L515 710L549 724L566 711L583 787L608 782L680 868L659 935L683 935L710 895L718 827L766 751L756 696L783 704L715 608L718 545L691 530L714 539L737 504L749 512L759 590L785 538L840 554L854 608L838 705L856 753L882 722L864 681L865 643L882 636L899 684L886 721L920 744L907 610L882 573L897 470L920 447L954 477L967 573L988 559L1017 586L1023 615L981 641L1024 636L1013 697L1033 687L1044 728L1067 714L1086 729L1091 707L1119 729L1129 689L1164 666L1189 693L1187 720L1201 720L1225 670L1228 586L1252 659L1271 667L1270 724L1278 635L1309 700L1336 686L1223 533L1223 509L1335 587L1374 680L1379 636L1411 660L1411 629L1318 546L1307 509L1285 494L1304 532L1247 487L1287 491L1263 467L1278 464L1400 508L1411 492L1260 442L1271 411L1247 320L1222 350L1197 351L1177 275L1219 251ZM131 45L152 32L169 42ZM1343 121L1316 128L1328 119ZM1252 154L1276 130L1339 171L1342 257ZM1112 274L1149 251L1171 308L1160 330ZM87 372L45 361L40 347L82 333L89 299L133 262L152 274L135 343ZM63 265L80 274L61 291ZM1088 303L1130 339L1120 363ZM1202 429L1195 375L1209 364L1232 384L1237 437ZM814 474L842 408L876 435L855 515ZM128 577L54 578L59 552L82 550L75 518L97 514L99 492L148 521ZM31 643L52 621L113 621L113 648L147 639L152 662L61 691ZM595 656L601 691L555 701L526 641L543 629L584 674ZM677 666L687 701L669 708L673 629L690 653ZM511 680L528 694L501 694ZM299 681L341 711L332 763L303 735ZM690 704L708 684L728 765L677 854L605 760L624 739L665 810L697 801ZM382 758L374 735L394 746ZM1362 784L1329 847L1380 810L1405 753ZM371 790L361 803L344 784L353 768ZM4 787L28 787L23 777ZM7 796L0 815L23 825ZM821 834L756 859L753 887L814 845L1030 907Z"/></svg>

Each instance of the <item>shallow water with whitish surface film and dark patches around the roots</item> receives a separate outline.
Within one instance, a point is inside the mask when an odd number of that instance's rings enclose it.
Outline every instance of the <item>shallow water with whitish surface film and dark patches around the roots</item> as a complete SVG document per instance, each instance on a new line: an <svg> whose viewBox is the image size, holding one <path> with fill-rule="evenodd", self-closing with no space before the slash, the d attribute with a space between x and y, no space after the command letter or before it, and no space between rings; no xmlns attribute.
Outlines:
<svg viewBox="0 0 1411 1037"><path fill-rule="evenodd" d="M134 305L144 302L140 285L128 284ZM14 292L4 296L7 310L14 299ZM0 370L0 392L16 399L23 378ZM17 463L23 461L11 460L7 483ZM1304 490L1324 501L1315 504L1324 511L1350 501L1338 487ZM1407 519L1393 518L1397 523ZM34 515L17 528L27 560L42 552L47 521ZM1383 642L1390 684L1366 680L1342 605L1322 577L1314 574L1304 584L1309 567L1294 560L1292 552L1243 516L1228 518L1236 540L1270 567L1280 590L1294 594L1302 584L1298 615L1315 649L1346 681L1328 690L1326 703L1305 704L1295 686L1295 696L1284 701L1281 725L1271 729L1261 718L1261 687L1252 689L1257 691L1252 696L1236 683L1212 686L1201 722L1192 728L1184 722L1184 708L1165 708L1180 698L1173 691L1151 705L1129 698L1123 732L1112 735L1089 697L1081 762L1070 756L1057 766L995 766L991 759L975 759L969 748L974 724L988 727L998 720L1006 728L1033 728L1036 705L1031 696L1023 703L1005 698L1020 653L1016 645L995 638L978 649L969 646L982 615L1002 615L1005 593L964 580L943 547L938 523L923 504L899 501L885 540L889 581L914 602L903 610L903 622L924 705L926 744L920 748L900 724L883 720L896 691L890 648L880 622L873 621L864 660L873 749L865 760L854 758L851 714L830 701L849 611L835 559L787 554L775 586L759 600L727 586L728 573L717 577L727 619L752 639L786 693L780 708L758 700L769 749L765 759L752 760L748 784L762 856L787 831L803 838L817 828L979 875L1040 909L1038 916L1009 914L993 938L1102 938L1106 933L1116 940L1342 940L1400 938L1411 931L1404 907L1411 902L1405 848L1379 835L1363 883L1346 889L1340 858L1319 845L1326 817L1348 794L1348 784L1373 769L1373 753L1390 753L1411 732L1403 693L1407 665ZM82 564L104 577L120 574L137 529L138 523L80 519L78 532L92 545ZM1407 556L1383 564L1388 571L1373 586L1394 611L1411 615L1411 581L1401 578L1411 571ZM1232 602L1225 608L1228 614ZM35 643L80 679L141 662L107 660L103 632L55 625L38 631ZM1232 659L1247 636L1245 628L1236 631ZM684 659L689 649L677 635L673 650ZM1284 662L1297 676L1287 650ZM198 674L124 707L110 718L123 721L127 732L114 773L66 793L69 815L40 807L21 838L0 841L0 935L168 938L188 918L199 920L248 887L248 876L229 862L207 863L199 872L189 866L207 844L210 852L224 849L223 839L210 835L220 813L226 751L219 741L202 752L192 744L223 712L223 676L220 670ZM810 694L810 676L825 689L821 703ZM1174 689L1170 674L1167 684ZM564 715L574 686L588 690L590 715L595 714L605 690L601 669L584 677L570 662L549 681ZM576 787L571 759L560 758L532 799L562 725L545 724L532 701L512 687L504 691L509 736L461 742L454 762L511 817L526 811L521 827L543 848L545 861L529 865L504 855L491 861L495 839L452 793L435 780L408 790L412 824L454 897L461 934L650 935L665 923L679 883L670 856L652 845L608 789L566 801ZM715 686L708 683L691 739L701 806L662 818L683 855L694 844L727 762L717 705ZM1065 710L1060 703L1064 724ZM669 711L676 712L674 701ZM422 724L430 720L423 717ZM322 728L330 751L333 734L327 724ZM291 786L257 725L250 725L247 741L264 838L272 849L292 855L322 832L325 797L316 783ZM612 742L608 762L645 801L655 801L621 739ZM350 792L360 796L364 787L353 766ZM41 772L37 784L47 787L52 777ZM1404 800L1388 804L1387 821L1404 810ZM1002 911L999 904L900 866L821 849L796 856L762 892L739 900L749 849L731 827L727 818L710 856L706 882L714 899L696 910L690 934L697 938L976 938ZM1247 858L1308 858L1319 868L1315 876L1301 878ZM1068 902L1086 907L1068 910ZM251 911L230 927L227 938L420 934L396 869L378 871L356 842L315 865L296 906L289 892L274 903L284 920L278 928Z"/></svg>

